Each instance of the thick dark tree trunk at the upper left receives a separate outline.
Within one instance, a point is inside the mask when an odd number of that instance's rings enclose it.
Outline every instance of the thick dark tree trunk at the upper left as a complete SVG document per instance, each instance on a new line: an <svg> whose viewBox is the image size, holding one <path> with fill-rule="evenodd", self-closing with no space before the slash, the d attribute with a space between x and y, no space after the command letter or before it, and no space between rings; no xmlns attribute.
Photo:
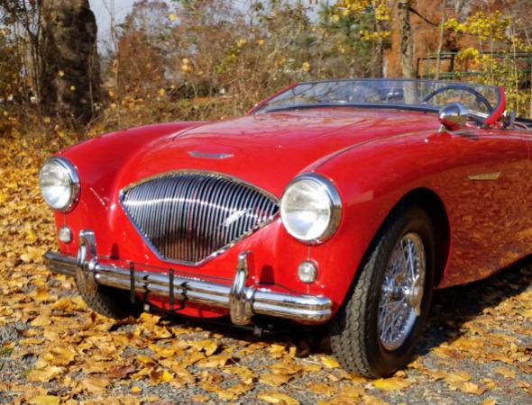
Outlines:
<svg viewBox="0 0 532 405"><path fill-rule="evenodd" d="M88 0L40 0L42 113L87 124L100 99L96 18Z"/></svg>

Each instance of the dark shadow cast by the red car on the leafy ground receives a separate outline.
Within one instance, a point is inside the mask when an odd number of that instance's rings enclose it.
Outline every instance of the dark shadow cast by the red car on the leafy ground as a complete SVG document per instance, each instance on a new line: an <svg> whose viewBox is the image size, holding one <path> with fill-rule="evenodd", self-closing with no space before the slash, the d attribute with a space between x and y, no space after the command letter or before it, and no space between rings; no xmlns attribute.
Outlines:
<svg viewBox="0 0 532 405"><path fill-rule="evenodd" d="M482 281L436 291L427 328L417 344L415 356L427 355L434 347L452 343L467 333L467 329L463 329L466 322L525 292L530 285L532 257ZM262 342L296 347L298 354L303 356L331 353L327 325L307 327L282 320L263 319L261 327L236 327L228 317L202 320L168 313L163 320L169 326L199 328L244 343Z"/></svg>

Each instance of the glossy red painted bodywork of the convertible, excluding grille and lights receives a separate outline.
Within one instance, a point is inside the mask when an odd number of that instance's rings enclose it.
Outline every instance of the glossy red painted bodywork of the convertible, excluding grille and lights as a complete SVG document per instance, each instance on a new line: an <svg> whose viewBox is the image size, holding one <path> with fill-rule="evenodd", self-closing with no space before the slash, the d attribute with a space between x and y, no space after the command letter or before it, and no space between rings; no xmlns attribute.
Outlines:
<svg viewBox="0 0 532 405"><path fill-rule="evenodd" d="M452 235L438 286L471 282L527 255L532 246L524 198L532 184L527 132L466 127L440 133L439 126L434 114L335 108L116 132L61 153L78 170L81 195L74 210L56 213L57 225L68 224L74 234L94 229L102 256L171 266L181 275L223 284L231 284L238 254L250 250L257 287L323 294L336 310L390 211L423 189L445 206ZM278 198L294 176L314 171L337 187L342 221L332 238L312 247L290 237L278 217L200 266L164 262L134 228L119 195L146 177L177 170L222 173ZM78 241L60 243L60 249L75 254ZM297 276L308 259L318 266L313 284Z"/></svg>

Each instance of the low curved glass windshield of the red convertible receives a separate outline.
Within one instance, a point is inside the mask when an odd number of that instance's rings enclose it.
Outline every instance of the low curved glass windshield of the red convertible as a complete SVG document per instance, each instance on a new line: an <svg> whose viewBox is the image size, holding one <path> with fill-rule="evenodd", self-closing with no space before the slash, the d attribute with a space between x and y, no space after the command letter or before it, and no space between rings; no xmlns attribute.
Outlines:
<svg viewBox="0 0 532 405"><path fill-rule="evenodd" d="M462 82L408 79L344 79L294 85L260 103L252 113L330 106L369 106L438 111L462 103L470 114L487 119L504 106L499 87ZM500 111L502 110L502 111Z"/></svg>

